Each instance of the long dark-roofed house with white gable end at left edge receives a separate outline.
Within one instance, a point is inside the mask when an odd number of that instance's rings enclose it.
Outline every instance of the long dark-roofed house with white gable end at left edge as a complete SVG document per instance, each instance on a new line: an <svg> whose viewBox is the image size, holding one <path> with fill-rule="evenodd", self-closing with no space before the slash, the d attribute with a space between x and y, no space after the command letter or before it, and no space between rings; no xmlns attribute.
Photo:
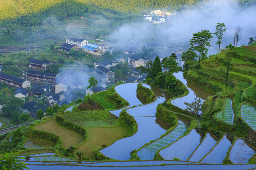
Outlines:
<svg viewBox="0 0 256 170"><path fill-rule="evenodd" d="M19 78L17 76L10 76L5 73L0 73L0 81L5 82L9 85L13 85L16 87L23 87L23 88L30 87L30 85L31 85L30 81Z"/></svg>

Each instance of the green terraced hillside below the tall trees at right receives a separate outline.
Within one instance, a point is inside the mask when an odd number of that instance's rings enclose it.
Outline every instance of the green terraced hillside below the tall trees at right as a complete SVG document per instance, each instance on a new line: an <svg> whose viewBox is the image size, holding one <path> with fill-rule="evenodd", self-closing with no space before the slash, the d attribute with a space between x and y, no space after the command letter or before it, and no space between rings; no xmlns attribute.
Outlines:
<svg viewBox="0 0 256 170"><path fill-rule="evenodd" d="M226 93L227 56L232 59ZM241 106L243 102L256 105L256 47L243 46L233 50L222 50L219 54L205 59L201 64L198 61L192 63L189 69L184 71L184 76L194 85L215 94L209 96L201 107L203 112L201 124L204 129L222 133L232 132L235 136L255 142L255 139L249 137L252 133L256 135L252 130L253 125L249 126L247 124L249 120L241 117ZM227 115L223 115L220 111L225 108L225 101L226 107L230 104L227 103L230 99L232 100L229 108L230 119L227 121ZM253 106L252 108L255 111Z"/></svg>

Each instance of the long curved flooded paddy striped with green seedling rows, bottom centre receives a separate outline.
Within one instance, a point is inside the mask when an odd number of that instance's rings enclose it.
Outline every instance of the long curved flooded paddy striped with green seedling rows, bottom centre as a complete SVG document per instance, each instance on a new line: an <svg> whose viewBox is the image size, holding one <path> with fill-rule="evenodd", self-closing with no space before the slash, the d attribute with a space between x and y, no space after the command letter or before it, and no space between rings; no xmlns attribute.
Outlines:
<svg viewBox="0 0 256 170"><path fill-rule="evenodd" d="M180 136L183 136L187 130L187 125L179 123L176 128L168 135L160 138L159 140L147 145L145 148L138 151L137 155L141 160L153 160L155 153L163 147L174 143Z"/></svg>

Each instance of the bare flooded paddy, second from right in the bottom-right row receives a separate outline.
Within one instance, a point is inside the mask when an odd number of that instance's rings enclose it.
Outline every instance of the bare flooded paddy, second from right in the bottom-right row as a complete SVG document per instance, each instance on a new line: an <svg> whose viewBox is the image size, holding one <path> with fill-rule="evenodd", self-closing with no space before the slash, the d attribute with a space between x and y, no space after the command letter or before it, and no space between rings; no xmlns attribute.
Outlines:
<svg viewBox="0 0 256 170"><path fill-rule="evenodd" d="M222 164L222 161L225 159L230 146L231 142L229 141L227 136L223 136L219 144L217 144L212 149L212 151L208 155L206 155L201 163Z"/></svg>

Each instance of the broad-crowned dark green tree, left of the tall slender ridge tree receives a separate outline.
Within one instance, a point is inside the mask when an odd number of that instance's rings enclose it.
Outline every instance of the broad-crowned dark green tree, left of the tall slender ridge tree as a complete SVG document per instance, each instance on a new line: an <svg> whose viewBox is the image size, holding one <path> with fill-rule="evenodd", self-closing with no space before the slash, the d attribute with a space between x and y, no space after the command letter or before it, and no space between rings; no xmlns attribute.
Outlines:
<svg viewBox="0 0 256 170"><path fill-rule="evenodd" d="M191 50L199 52L199 63L202 57L207 54L208 49L206 47L210 47L210 39L212 38L209 30L201 30L201 32L194 33L192 39L190 40Z"/></svg>

